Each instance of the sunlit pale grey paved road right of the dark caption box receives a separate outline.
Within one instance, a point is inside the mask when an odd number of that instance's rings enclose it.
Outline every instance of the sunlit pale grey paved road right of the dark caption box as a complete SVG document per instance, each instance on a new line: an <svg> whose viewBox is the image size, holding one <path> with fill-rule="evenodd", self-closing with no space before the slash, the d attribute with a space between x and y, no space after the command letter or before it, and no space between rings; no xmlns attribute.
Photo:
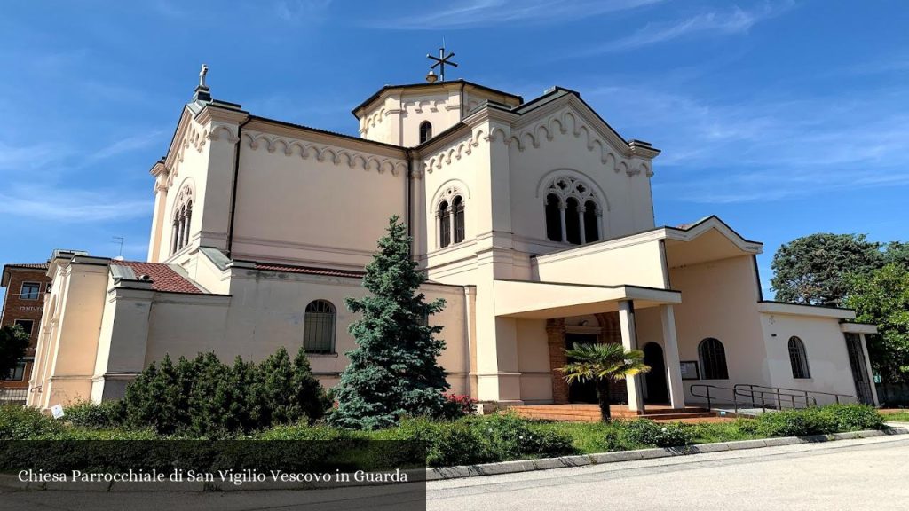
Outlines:
<svg viewBox="0 0 909 511"><path fill-rule="evenodd" d="M431 482L430 511L909 509L909 438L767 447Z"/></svg>

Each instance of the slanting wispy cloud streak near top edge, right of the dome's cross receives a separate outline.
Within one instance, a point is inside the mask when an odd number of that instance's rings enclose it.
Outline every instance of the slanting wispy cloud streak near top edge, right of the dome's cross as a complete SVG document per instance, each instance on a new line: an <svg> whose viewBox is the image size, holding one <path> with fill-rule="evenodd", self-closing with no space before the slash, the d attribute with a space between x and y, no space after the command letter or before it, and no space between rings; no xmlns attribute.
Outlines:
<svg viewBox="0 0 909 511"><path fill-rule="evenodd" d="M744 34L757 23L783 13L793 5L791 1L765 3L750 10L734 6L723 12L708 11L671 22L648 23L632 35L599 45L584 54L624 51L695 35Z"/></svg>

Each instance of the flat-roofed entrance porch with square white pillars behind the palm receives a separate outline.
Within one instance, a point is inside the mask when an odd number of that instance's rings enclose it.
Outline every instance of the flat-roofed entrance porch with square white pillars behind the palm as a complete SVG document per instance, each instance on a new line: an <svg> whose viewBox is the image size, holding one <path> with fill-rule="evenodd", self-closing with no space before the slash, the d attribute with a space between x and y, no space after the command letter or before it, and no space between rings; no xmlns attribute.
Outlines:
<svg viewBox="0 0 909 511"><path fill-rule="evenodd" d="M642 286L496 280L495 302L498 317L545 320L547 376L552 386L548 403L574 403L581 406L577 409L596 403L591 386L568 386L558 371L568 362L565 348L578 343L621 343L625 349L642 349L653 369L611 386L610 400L620 406L616 416L644 414L648 403L684 409L673 309L681 302L679 292ZM571 408L560 409L565 410Z"/></svg>

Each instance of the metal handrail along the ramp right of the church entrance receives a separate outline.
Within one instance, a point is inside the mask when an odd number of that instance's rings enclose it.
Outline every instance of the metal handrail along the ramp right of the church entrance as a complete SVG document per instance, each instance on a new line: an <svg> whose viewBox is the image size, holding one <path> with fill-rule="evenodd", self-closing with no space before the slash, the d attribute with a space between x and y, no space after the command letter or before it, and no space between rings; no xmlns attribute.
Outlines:
<svg viewBox="0 0 909 511"><path fill-rule="evenodd" d="M855 396L846 394L754 384L736 384L734 386L695 384L690 386L688 391L694 397L706 399L707 408L713 408L714 401L728 402L731 399L736 415L738 415L739 408L743 407L761 408L762 411L767 411L767 409L782 410L817 406L818 396L833 396L836 403L840 403L841 399L857 401Z"/></svg>

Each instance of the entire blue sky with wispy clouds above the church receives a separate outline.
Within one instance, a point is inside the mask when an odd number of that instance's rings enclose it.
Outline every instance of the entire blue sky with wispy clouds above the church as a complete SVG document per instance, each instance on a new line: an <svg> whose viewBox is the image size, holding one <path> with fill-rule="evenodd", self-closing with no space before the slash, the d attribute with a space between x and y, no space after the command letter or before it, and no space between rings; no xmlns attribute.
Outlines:
<svg viewBox="0 0 909 511"><path fill-rule="evenodd" d="M54 248L142 260L148 169L199 65L216 98L356 134L350 109L420 82L445 37L464 78L579 91L654 162L659 225L719 215L764 242L909 239L909 5L614 0L5 2L0 263Z"/></svg>

